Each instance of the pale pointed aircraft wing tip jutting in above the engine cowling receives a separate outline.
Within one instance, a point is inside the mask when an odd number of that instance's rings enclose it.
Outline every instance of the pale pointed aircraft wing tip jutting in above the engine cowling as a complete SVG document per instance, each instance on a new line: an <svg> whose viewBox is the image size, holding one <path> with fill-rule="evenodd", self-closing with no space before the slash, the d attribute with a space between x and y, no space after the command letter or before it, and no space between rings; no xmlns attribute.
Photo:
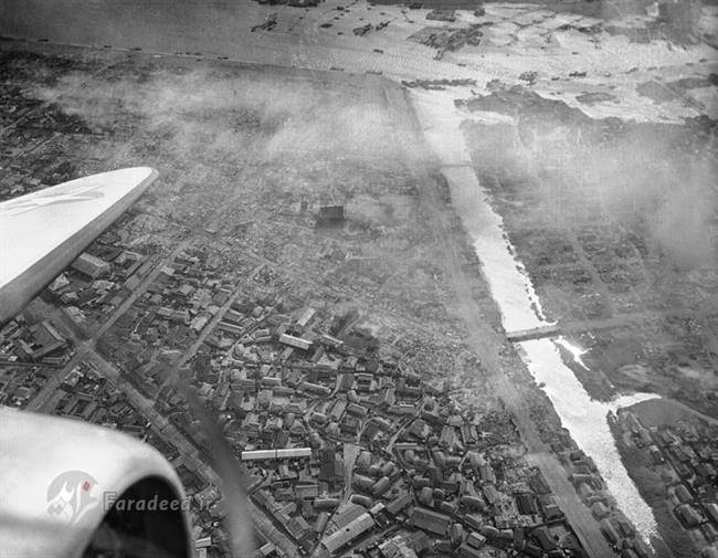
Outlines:
<svg viewBox="0 0 718 558"><path fill-rule="evenodd" d="M22 310L156 178L149 167L113 170L0 203L0 324Z"/></svg>

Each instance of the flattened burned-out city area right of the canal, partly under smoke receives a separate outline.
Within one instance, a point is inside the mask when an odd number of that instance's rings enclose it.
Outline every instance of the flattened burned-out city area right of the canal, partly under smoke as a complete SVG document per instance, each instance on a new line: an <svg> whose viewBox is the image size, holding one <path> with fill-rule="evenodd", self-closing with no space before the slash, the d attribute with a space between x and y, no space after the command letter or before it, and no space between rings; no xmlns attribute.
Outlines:
<svg viewBox="0 0 718 558"><path fill-rule="evenodd" d="M598 398L657 392L718 413L716 123L593 119L521 86L461 103L482 183ZM497 143L500 148L497 148Z"/></svg>

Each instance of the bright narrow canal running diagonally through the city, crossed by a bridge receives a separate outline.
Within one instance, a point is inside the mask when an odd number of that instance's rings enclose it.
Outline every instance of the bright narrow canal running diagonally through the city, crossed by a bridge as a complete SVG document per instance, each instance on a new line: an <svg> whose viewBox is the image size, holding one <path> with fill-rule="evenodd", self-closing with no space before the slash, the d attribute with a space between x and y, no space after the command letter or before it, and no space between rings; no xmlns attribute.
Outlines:
<svg viewBox="0 0 718 558"><path fill-rule="evenodd" d="M424 135L442 164L448 181L452 203L469 234L482 263L492 295L507 331L547 325L541 304L526 269L514 256L503 220L488 203L487 192L478 183L461 130L463 117L445 92L413 94ZM522 360L537 383L551 400L556 412L576 443L591 456L619 508L633 523L646 543L657 537L653 510L623 466L608 423L609 411L654 399L652 393L623 396L611 402L591 399L573 371L564 365L559 346L580 361L580 348L568 339L537 339L518 344Z"/></svg>

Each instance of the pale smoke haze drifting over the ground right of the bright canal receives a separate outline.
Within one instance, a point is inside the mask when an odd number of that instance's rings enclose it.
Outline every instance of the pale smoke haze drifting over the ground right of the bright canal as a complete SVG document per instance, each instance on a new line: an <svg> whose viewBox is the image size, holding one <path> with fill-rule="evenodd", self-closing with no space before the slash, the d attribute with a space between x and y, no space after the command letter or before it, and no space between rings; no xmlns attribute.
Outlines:
<svg viewBox="0 0 718 558"><path fill-rule="evenodd" d="M547 223L580 229L600 217L677 267L716 264L715 123L592 120L549 103L548 114L527 110L516 125L468 124L477 165L530 190Z"/></svg>

